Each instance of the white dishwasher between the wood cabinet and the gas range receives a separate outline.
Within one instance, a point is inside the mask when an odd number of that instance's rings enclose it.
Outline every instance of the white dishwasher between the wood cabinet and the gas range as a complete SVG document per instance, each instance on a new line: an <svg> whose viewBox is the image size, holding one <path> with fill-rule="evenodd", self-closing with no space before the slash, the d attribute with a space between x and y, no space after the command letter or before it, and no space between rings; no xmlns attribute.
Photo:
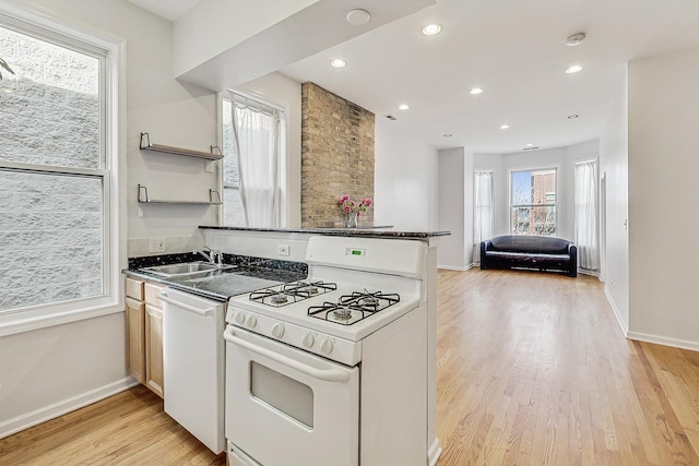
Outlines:
<svg viewBox="0 0 699 466"><path fill-rule="evenodd" d="M224 451L226 303L166 288L163 300L165 413L212 452Z"/></svg>

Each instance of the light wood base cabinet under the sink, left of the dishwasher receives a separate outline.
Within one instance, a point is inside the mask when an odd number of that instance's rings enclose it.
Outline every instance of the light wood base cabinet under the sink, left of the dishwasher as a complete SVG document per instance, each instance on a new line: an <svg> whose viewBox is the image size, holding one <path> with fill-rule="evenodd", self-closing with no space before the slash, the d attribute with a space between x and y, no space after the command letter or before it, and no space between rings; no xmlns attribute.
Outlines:
<svg viewBox="0 0 699 466"><path fill-rule="evenodd" d="M127 277L127 368L129 374L159 397L163 386L164 287Z"/></svg>

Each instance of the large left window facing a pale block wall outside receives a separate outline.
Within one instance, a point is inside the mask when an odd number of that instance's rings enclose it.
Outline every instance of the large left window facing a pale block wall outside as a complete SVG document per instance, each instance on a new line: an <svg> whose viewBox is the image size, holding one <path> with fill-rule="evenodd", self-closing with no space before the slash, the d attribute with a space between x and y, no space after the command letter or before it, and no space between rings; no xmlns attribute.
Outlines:
<svg viewBox="0 0 699 466"><path fill-rule="evenodd" d="M0 50L0 322L115 304L108 51L2 14Z"/></svg>

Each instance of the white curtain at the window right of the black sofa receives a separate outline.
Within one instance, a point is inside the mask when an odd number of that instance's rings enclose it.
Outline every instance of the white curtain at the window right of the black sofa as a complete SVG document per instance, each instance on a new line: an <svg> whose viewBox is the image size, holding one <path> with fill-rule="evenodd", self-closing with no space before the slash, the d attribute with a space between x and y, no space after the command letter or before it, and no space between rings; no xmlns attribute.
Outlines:
<svg viewBox="0 0 699 466"><path fill-rule="evenodd" d="M597 227L597 163L576 164L576 244L578 266L582 270L600 270L600 237Z"/></svg>

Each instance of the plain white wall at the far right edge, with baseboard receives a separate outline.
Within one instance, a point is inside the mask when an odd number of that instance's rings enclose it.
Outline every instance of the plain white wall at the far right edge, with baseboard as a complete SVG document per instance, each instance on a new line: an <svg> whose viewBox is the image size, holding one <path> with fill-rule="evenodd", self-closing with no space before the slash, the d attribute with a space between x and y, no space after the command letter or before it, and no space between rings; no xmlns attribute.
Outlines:
<svg viewBox="0 0 699 466"><path fill-rule="evenodd" d="M628 73L629 337L699 350L699 49Z"/></svg>

